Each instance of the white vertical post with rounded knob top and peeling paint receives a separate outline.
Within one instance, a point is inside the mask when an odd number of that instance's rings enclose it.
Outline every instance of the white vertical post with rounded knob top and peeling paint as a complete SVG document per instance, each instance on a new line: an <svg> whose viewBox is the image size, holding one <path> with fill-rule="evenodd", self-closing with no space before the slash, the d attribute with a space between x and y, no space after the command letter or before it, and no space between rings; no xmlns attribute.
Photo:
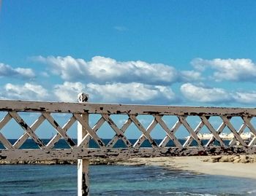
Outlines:
<svg viewBox="0 0 256 196"><path fill-rule="evenodd" d="M78 102L85 103L89 95L86 93L78 94ZM89 125L89 114L82 114L83 121ZM78 145L86 136L87 130L78 122ZM89 147L89 142L84 147ZM78 196L87 196L89 194L89 160L78 159Z"/></svg>

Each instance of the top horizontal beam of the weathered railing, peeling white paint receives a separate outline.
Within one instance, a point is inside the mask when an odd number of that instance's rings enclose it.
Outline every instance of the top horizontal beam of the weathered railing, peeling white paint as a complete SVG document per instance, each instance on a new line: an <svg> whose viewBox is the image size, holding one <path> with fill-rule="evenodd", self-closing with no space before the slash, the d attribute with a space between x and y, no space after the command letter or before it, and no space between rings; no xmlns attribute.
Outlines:
<svg viewBox="0 0 256 196"><path fill-rule="evenodd" d="M177 116L255 117L254 108L222 108L195 106L148 106L103 103L61 103L0 100L0 111L27 111L76 114L140 114Z"/></svg>

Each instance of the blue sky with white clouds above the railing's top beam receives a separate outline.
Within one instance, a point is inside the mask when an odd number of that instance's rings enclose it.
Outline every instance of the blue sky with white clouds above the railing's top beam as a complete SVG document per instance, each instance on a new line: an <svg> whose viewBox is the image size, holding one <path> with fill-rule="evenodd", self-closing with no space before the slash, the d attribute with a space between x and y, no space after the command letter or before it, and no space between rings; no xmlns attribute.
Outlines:
<svg viewBox="0 0 256 196"><path fill-rule="evenodd" d="M256 1L2 1L0 99L255 107Z"/></svg>

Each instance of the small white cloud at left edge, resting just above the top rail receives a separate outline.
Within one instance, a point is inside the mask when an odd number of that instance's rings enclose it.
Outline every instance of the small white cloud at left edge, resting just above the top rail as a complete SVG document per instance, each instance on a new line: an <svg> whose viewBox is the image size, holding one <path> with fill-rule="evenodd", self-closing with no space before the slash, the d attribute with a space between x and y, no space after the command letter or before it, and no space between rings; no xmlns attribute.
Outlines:
<svg viewBox="0 0 256 196"><path fill-rule="evenodd" d="M13 100L46 101L49 99L48 90L41 85L25 83L24 85L12 85L8 83L1 90L0 97Z"/></svg>

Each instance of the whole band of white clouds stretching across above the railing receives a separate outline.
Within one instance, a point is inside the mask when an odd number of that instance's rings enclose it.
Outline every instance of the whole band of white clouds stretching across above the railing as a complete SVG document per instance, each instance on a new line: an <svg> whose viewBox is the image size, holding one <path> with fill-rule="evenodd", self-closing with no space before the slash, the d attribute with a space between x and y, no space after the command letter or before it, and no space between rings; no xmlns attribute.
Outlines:
<svg viewBox="0 0 256 196"><path fill-rule="evenodd" d="M249 59L196 58L191 62L195 68L192 70L177 70L173 66L141 60L122 62L101 56L89 61L71 56L39 56L34 60L48 65L40 77L58 82L51 83L50 89L46 89L42 81L39 81L41 85L9 82L1 87L0 98L76 102L76 95L86 92L91 102L101 103L219 105L254 104L256 101L256 91L227 90L203 84L205 81L211 85L222 81L232 85L254 81L256 66ZM0 77L30 79L35 75L31 68L12 68L0 63Z"/></svg>

